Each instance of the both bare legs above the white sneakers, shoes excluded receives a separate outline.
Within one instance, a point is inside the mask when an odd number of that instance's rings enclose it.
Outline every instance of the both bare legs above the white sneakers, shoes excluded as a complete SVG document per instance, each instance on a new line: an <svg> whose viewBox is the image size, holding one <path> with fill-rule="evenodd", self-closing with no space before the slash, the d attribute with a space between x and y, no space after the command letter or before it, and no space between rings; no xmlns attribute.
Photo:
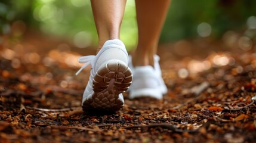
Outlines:
<svg viewBox="0 0 256 143"><path fill-rule="evenodd" d="M132 54L134 66L154 66L159 36L165 21L170 0L135 0L138 45ZM92 12L98 33L98 49L110 39L120 39L120 28L126 0L91 0Z"/></svg>

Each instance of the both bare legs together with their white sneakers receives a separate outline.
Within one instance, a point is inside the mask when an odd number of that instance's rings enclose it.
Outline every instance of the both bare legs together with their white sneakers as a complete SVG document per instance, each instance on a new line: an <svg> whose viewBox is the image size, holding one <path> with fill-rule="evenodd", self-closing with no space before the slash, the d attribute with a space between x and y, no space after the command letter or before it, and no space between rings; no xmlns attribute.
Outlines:
<svg viewBox="0 0 256 143"><path fill-rule="evenodd" d="M79 58L85 64L78 73L91 64L82 98L84 110L119 110L124 106L122 92L128 88L131 99L150 96L161 100L167 91L155 54L170 0L135 2L138 46L131 58L119 40L126 0L91 0L99 42L96 55Z"/></svg>

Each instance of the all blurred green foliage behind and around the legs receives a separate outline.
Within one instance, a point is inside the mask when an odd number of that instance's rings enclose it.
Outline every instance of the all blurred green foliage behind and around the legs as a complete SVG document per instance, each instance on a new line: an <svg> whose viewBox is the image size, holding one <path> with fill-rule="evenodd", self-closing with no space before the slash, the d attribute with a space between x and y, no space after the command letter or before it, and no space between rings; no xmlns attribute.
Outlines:
<svg viewBox="0 0 256 143"><path fill-rule="evenodd" d="M128 0L121 27L121 39L128 48L137 42L135 2ZM218 38L227 30L245 30L246 20L256 13L256 1L173 0L169 8L161 42L198 36L198 25L208 23L211 36ZM0 1L0 29L10 32L10 24L23 20L27 26L44 33L70 39L78 33L88 44L97 44L97 32L88 0L10 0ZM81 36L81 35L80 35Z"/></svg>

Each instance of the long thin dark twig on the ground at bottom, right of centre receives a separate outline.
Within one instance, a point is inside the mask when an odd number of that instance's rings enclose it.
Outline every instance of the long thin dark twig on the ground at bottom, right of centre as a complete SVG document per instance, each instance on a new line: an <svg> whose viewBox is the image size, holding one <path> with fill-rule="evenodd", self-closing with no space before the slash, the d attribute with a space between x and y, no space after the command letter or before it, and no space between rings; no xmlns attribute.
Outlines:
<svg viewBox="0 0 256 143"><path fill-rule="evenodd" d="M183 133L183 132L189 132L189 133L194 133L198 132L198 129L195 130L182 130L175 128L174 125L166 124L166 123L159 123L159 124L150 124L150 125L136 125L136 126L127 126L124 127L124 129L135 129L135 128L164 128L164 129L169 129L172 130L172 132L177 132L177 133Z"/></svg>

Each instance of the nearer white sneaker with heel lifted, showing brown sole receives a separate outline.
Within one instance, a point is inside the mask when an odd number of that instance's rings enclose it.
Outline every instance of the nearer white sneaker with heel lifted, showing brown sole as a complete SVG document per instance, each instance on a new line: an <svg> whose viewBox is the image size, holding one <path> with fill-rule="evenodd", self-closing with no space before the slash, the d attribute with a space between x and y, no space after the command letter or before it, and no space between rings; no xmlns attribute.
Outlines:
<svg viewBox="0 0 256 143"><path fill-rule="evenodd" d="M106 41L97 55L79 58L84 66L91 64L91 75L82 98L84 110L117 111L124 106L122 92L127 91L132 81L128 67L128 54L119 39Z"/></svg>

